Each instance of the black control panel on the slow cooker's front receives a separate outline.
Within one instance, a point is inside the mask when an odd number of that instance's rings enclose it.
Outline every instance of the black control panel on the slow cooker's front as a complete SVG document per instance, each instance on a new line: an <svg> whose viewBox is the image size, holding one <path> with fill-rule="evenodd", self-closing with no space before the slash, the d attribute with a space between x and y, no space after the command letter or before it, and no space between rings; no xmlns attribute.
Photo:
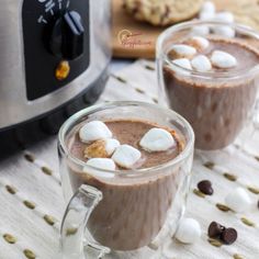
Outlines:
<svg viewBox="0 0 259 259"><path fill-rule="evenodd" d="M66 87L86 71L90 61L89 15L89 0L23 1L27 100ZM58 69L65 69L61 79Z"/></svg>

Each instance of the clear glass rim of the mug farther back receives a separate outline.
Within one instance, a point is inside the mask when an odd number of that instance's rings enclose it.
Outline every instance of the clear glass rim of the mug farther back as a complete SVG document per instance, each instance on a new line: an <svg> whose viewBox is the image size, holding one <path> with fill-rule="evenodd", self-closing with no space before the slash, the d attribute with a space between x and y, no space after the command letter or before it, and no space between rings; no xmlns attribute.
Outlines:
<svg viewBox="0 0 259 259"><path fill-rule="evenodd" d="M182 30L187 30L187 29L192 29L193 26L199 26L199 25L206 25L206 26L215 26L215 25L219 25L219 26L228 26L228 27L233 27L235 31L239 31L246 35L249 35L250 37L255 38L258 41L259 43L259 33L246 25L243 24L238 24L238 23L227 23L227 22L216 22L216 21L200 21L200 20L195 20L195 21L190 21L190 22L183 22L177 25L172 25L168 29L166 29L157 38L157 43L156 43L156 59L162 59L162 60L167 60L170 66L172 66L172 68L178 69L180 71L190 74L189 76L191 77L198 77L198 78L203 78L203 79L212 79L213 77L215 77L215 74L213 71L205 71L205 72L201 72L201 71L194 71L191 69L187 69L183 68L181 66L178 66L177 64L173 64L172 60L169 60L167 57L167 54L165 54L165 50L162 48L162 44L165 42L165 40L167 37L169 37L170 35L173 35L173 33L180 32ZM194 35L194 36L203 36L203 35ZM223 36L224 37L224 36ZM228 38L228 37L226 37ZM258 55L259 55L259 50L258 50ZM250 74L254 72L258 72L259 71L259 64L249 68L249 69L243 69L243 70L238 70L238 71L227 71L227 72L216 72L216 79L239 79L239 78L244 78L244 75L246 77L248 77Z"/></svg>

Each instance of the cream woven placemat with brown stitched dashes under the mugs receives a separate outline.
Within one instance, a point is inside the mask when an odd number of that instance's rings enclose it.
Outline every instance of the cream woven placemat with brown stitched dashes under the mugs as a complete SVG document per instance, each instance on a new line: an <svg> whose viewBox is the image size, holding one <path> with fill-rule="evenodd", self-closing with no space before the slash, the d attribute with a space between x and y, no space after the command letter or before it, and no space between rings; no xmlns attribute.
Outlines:
<svg viewBox="0 0 259 259"><path fill-rule="evenodd" d="M111 75L99 102L138 100L157 103L155 64L138 60ZM187 216L202 226L202 238L194 245L173 239L165 244L168 259L257 259L259 258L259 134L249 134L246 147L239 138L228 148L214 153L196 153ZM195 190L202 179L213 182L211 198ZM247 189L254 210L236 214L224 205L225 195L236 187ZM65 210L58 173L56 137L20 153L0 164L0 259L58 259L59 227ZM206 229L211 221L233 226L238 239L232 246L210 240ZM131 237L130 237L131 238Z"/></svg>

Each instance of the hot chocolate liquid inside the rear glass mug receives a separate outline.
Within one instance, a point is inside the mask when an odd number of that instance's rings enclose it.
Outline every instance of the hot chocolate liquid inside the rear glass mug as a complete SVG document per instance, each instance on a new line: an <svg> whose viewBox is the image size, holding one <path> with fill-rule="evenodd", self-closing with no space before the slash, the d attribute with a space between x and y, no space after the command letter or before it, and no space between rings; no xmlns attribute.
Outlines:
<svg viewBox="0 0 259 259"><path fill-rule="evenodd" d="M259 64L259 53L237 40L210 40L210 46L200 54L207 57L213 50L229 53L237 66L227 70L212 68L209 78L183 75L164 66L164 79L170 106L192 125L195 147L219 149L230 144L246 123L258 87L258 75L249 69ZM229 74L221 79L218 72ZM235 79L230 75L244 75Z"/></svg>

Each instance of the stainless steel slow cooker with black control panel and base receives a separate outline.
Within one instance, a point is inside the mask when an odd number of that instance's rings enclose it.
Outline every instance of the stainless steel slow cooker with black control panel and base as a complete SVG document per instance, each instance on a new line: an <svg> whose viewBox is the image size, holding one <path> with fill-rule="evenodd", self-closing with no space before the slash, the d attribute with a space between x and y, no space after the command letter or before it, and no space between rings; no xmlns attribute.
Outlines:
<svg viewBox="0 0 259 259"><path fill-rule="evenodd" d="M56 133L98 99L110 16L109 0L1 0L0 157Z"/></svg>

